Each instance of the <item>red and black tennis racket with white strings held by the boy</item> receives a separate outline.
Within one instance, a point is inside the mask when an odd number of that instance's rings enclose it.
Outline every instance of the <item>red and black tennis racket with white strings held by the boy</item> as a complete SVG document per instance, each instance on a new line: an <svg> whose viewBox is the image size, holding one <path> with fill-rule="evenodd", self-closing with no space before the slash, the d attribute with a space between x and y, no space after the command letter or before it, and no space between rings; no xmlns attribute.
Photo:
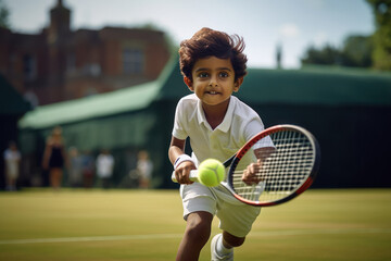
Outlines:
<svg viewBox="0 0 391 261"><path fill-rule="evenodd" d="M276 125L251 138L223 164L226 186L240 201L257 207L287 202L314 182L320 163L316 138L295 125ZM197 182L197 170L190 179ZM175 172L172 179L176 182Z"/></svg>

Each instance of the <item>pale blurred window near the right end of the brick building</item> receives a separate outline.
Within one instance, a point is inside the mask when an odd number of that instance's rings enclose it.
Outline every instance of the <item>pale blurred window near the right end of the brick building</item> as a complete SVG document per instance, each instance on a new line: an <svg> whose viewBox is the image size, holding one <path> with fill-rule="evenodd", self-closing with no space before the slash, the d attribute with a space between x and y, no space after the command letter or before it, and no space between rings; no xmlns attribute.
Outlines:
<svg viewBox="0 0 391 261"><path fill-rule="evenodd" d="M123 73L142 74L144 54L139 49L124 49L123 51Z"/></svg>

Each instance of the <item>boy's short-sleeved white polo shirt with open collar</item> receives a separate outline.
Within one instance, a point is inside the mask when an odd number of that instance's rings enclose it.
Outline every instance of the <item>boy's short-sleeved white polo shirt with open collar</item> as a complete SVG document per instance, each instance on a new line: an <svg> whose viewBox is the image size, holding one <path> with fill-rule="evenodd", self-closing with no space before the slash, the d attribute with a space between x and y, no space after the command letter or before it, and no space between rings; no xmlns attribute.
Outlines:
<svg viewBox="0 0 391 261"><path fill-rule="evenodd" d="M212 129L200 99L192 94L181 98L177 104L173 136L182 140L190 138L192 158L199 165L207 158L224 162L263 129L257 113L235 96L229 100L223 122Z"/></svg>

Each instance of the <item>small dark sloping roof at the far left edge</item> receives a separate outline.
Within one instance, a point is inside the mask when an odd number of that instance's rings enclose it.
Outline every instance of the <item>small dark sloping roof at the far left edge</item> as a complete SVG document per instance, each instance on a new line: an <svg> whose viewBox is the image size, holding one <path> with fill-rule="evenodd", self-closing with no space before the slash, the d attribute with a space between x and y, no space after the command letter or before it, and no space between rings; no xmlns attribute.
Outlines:
<svg viewBox="0 0 391 261"><path fill-rule="evenodd" d="M31 110L29 103L0 74L0 115L21 115Z"/></svg>

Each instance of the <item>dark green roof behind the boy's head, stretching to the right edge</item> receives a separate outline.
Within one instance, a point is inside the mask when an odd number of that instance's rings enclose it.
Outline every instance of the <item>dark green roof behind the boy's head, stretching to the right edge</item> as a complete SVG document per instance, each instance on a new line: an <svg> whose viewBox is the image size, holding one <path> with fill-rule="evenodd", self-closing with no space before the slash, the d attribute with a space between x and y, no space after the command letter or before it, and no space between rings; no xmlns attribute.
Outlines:
<svg viewBox="0 0 391 261"><path fill-rule="evenodd" d="M159 98L178 100L187 94L176 64ZM236 96L256 104L391 105L391 73L330 66L248 69Z"/></svg>

